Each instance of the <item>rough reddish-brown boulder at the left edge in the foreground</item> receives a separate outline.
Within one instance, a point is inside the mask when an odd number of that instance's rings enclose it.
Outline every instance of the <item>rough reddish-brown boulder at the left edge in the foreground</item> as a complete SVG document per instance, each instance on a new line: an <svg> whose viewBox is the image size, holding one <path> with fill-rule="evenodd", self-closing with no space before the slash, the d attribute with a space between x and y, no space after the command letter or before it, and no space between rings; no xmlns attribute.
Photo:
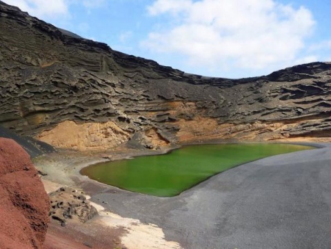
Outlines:
<svg viewBox="0 0 331 249"><path fill-rule="evenodd" d="M49 199L28 153L0 138L0 248L42 248Z"/></svg>

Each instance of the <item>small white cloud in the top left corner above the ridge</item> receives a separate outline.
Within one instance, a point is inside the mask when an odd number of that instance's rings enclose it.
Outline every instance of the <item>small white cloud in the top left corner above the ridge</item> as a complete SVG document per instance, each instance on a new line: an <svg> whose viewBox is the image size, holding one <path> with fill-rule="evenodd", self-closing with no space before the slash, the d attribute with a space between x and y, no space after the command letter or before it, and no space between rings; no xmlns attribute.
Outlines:
<svg viewBox="0 0 331 249"><path fill-rule="evenodd" d="M65 0L5 0L5 2L38 18L68 15L68 3Z"/></svg>

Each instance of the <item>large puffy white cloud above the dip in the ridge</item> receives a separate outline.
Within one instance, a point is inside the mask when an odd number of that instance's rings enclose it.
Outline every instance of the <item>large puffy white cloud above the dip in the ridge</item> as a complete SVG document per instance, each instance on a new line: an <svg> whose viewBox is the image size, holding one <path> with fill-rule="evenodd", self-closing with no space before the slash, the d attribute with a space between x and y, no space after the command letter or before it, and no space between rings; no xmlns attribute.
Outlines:
<svg viewBox="0 0 331 249"><path fill-rule="evenodd" d="M141 46L183 54L188 65L209 68L288 66L300 61L314 28L310 10L274 0L157 0L148 13L167 21Z"/></svg>

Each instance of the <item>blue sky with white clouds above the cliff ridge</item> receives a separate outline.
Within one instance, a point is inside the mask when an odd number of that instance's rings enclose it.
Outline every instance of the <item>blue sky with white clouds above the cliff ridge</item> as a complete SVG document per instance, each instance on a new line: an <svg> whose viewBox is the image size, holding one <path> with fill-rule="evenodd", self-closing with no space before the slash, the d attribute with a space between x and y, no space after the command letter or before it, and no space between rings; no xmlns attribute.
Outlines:
<svg viewBox="0 0 331 249"><path fill-rule="evenodd" d="M330 0L2 0L185 72L252 77L331 61Z"/></svg>

